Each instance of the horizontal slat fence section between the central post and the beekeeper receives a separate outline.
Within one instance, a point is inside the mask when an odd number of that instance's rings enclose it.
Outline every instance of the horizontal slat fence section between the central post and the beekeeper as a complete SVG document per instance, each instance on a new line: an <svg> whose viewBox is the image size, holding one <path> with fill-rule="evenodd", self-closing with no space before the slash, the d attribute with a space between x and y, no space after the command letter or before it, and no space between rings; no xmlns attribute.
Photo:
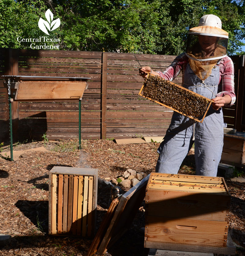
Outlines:
<svg viewBox="0 0 245 256"><path fill-rule="evenodd" d="M107 137L115 138L119 133L120 137L165 134L173 111L138 95L144 81L138 69L150 65L153 70L163 71L174 58L107 53Z"/></svg>

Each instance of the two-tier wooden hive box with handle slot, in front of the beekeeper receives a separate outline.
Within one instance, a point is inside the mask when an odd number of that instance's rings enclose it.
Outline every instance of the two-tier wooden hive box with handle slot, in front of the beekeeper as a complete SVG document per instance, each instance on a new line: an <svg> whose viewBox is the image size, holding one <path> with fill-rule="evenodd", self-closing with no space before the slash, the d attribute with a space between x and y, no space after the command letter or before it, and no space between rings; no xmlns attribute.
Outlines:
<svg viewBox="0 0 245 256"><path fill-rule="evenodd" d="M145 202L145 247L226 247L230 193L223 178L151 173Z"/></svg>

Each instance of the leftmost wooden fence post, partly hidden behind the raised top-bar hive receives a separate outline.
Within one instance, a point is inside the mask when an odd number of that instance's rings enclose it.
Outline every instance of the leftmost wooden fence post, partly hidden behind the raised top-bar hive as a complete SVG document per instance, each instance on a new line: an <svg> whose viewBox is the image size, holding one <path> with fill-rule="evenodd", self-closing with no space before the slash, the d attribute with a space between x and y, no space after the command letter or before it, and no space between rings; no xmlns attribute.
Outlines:
<svg viewBox="0 0 245 256"><path fill-rule="evenodd" d="M8 49L8 54L6 56L7 64L5 75L18 76L19 74L19 50L18 49ZM12 102L12 127L13 127L13 140L18 139L18 125L19 125L19 102Z"/></svg>

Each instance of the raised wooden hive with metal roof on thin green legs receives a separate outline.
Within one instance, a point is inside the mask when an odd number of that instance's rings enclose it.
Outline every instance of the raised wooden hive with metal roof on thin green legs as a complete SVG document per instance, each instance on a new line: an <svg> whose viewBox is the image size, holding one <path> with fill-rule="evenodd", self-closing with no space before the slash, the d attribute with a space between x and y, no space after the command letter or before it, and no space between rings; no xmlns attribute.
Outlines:
<svg viewBox="0 0 245 256"><path fill-rule="evenodd" d="M81 99L87 80L85 77L58 76L2 76L9 97L10 160L13 161L12 102L40 100L79 100L79 149L81 149Z"/></svg>

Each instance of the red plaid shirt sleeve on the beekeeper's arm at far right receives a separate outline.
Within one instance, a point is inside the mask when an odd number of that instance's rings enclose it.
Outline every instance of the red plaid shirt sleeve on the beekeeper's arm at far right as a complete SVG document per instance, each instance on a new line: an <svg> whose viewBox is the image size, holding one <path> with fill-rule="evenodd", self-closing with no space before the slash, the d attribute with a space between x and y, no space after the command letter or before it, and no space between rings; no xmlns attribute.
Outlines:
<svg viewBox="0 0 245 256"><path fill-rule="evenodd" d="M236 95L234 91L234 65L230 57L225 57L220 61L220 84L221 91L216 96L229 95L232 100L227 107L232 106L236 101Z"/></svg>

